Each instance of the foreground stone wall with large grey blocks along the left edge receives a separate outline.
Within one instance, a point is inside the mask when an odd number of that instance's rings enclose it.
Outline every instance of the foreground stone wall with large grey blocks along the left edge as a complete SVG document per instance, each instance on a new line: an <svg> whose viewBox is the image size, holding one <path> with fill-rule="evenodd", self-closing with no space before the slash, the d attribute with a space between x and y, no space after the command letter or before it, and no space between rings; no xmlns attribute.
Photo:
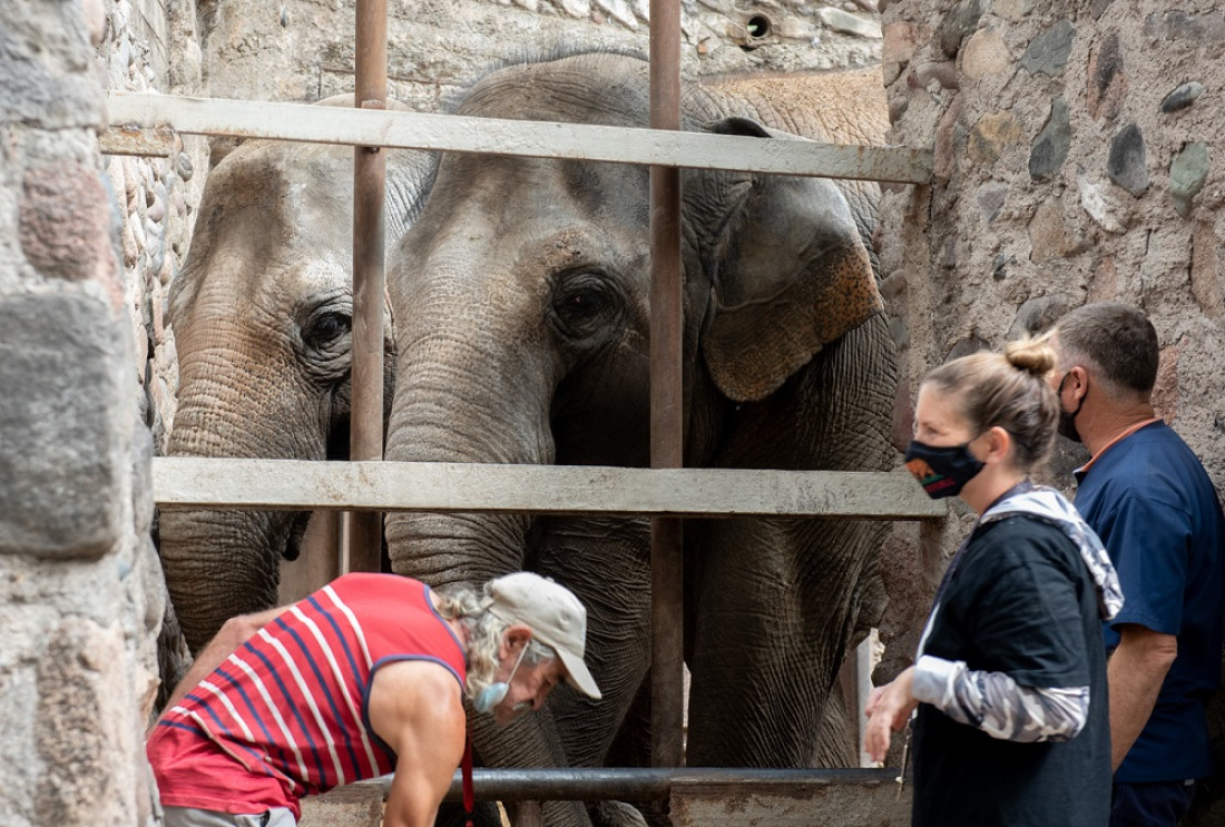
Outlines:
<svg viewBox="0 0 1225 827"><path fill-rule="evenodd" d="M0 4L0 823L153 821L149 540L96 0Z"/></svg>

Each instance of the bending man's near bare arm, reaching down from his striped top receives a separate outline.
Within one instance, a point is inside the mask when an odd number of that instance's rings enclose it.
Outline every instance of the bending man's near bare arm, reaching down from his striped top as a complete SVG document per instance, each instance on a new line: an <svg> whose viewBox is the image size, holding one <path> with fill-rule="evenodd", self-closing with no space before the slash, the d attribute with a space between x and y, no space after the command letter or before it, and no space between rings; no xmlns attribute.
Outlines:
<svg viewBox="0 0 1225 827"><path fill-rule="evenodd" d="M399 660L380 668L370 686L370 725L396 752L383 827L432 827L463 757L461 687L445 667Z"/></svg>

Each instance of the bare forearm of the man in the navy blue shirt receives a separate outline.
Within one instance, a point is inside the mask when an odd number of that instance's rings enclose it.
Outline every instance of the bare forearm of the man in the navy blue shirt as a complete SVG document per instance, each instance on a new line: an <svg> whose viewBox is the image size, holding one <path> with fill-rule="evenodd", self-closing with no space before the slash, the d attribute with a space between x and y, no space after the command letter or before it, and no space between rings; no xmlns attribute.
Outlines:
<svg viewBox="0 0 1225 827"><path fill-rule="evenodd" d="M1170 664L1178 655L1178 638L1137 624L1121 626L1115 653L1106 664L1110 686L1111 769L1127 757L1153 714Z"/></svg>

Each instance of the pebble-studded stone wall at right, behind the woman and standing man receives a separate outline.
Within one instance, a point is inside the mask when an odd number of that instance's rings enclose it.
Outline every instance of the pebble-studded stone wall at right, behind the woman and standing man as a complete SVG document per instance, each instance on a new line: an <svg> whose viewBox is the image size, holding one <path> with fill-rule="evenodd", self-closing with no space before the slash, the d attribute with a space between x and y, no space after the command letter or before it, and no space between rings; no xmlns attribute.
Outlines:
<svg viewBox="0 0 1225 827"><path fill-rule="evenodd" d="M882 198L898 445L931 366L1120 299L1158 328L1159 412L1225 484L1225 16L1207 1L882 6L892 140L936 156L930 186ZM1080 451L1061 444L1056 483Z"/></svg>

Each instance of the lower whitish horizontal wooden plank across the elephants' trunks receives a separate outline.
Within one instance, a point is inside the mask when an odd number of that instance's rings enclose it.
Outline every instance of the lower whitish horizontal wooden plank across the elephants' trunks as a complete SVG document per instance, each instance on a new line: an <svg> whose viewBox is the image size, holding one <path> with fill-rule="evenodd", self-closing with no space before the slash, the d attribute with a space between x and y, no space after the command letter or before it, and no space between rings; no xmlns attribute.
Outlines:
<svg viewBox="0 0 1225 827"><path fill-rule="evenodd" d="M942 517L907 473L156 457L163 508Z"/></svg>

